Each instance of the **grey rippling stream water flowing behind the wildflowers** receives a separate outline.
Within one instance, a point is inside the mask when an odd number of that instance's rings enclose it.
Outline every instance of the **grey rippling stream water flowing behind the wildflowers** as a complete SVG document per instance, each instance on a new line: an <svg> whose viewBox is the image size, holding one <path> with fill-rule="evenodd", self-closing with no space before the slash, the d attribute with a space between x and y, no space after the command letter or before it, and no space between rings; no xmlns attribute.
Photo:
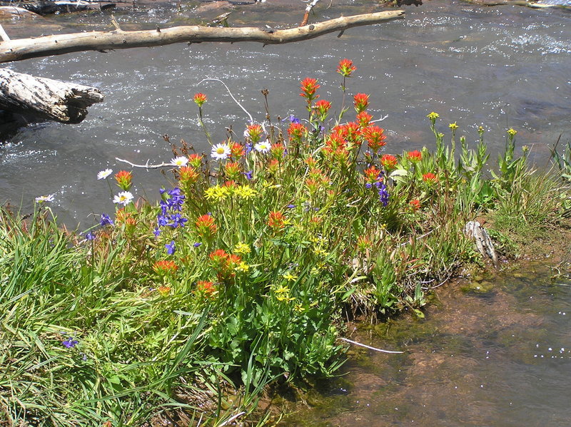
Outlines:
<svg viewBox="0 0 571 427"><path fill-rule="evenodd" d="M363 3L343 0L327 8L327 2L320 2L311 19L378 10ZM239 6L230 24L288 26L300 21L303 7L301 3L297 8L284 6L279 0ZM161 6L116 15L126 28L136 22L148 22L153 28L192 23L194 10L183 5L176 12ZM55 193L54 207L63 220L89 223L89 212L113 210L108 187L95 177L103 168L124 168L116 157L134 163L169 160L163 134L208 150L196 120L193 93L208 95L205 121L215 142L225 137L226 127L238 135L243 132L246 114L219 83L200 83L203 78L225 81L260 120L264 115L261 89L268 88L271 114L285 117L303 114L298 82L307 76L319 78L322 98L339 108L341 81L335 67L340 58L351 58L358 67L348 91L370 93L371 112L376 117L388 115L383 127L389 153L432 144L425 118L432 110L440 113L444 133L448 123L458 122L470 142L477 139L477 126L484 125L495 152L505 143L505 129L516 128L517 142L533 145L540 165L560 133L563 142L569 140L568 11L482 8L441 0L405 10L405 20L349 29L340 38L330 34L282 46L178 44L10 64L16 71L96 86L106 98L92 106L79 125L44 123L11 138L0 149L1 199L27 209L34 196ZM201 16L207 19L221 12L205 11ZM48 23L61 26L58 31L77 31L77 20L60 16L49 18ZM88 29L98 29L110 17L96 13L79 20ZM44 24L4 26L19 35L53 31ZM135 175L139 195L155 197L157 188L168 184L156 170L136 170Z"/></svg>

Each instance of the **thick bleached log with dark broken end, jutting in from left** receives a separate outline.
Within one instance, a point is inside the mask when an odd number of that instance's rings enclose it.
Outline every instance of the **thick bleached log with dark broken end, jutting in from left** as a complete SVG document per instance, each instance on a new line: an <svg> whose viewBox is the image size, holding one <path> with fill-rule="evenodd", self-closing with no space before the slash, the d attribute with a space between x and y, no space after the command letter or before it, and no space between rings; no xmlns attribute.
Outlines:
<svg viewBox="0 0 571 427"><path fill-rule="evenodd" d="M96 88L0 69L0 110L61 123L79 123L103 101Z"/></svg>

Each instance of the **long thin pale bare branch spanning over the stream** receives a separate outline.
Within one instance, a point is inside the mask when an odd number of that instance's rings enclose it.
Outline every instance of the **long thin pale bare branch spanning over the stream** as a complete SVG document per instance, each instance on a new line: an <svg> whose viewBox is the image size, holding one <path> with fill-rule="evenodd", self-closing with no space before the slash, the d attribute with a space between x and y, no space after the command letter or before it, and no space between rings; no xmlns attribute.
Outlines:
<svg viewBox="0 0 571 427"><path fill-rule="evenodd" d="M253 27L211 28L176 26L146 31L93 31L90 33L57 34L37 38L21 38L0 42L0 63L28 58L61 55L80 51L103 51L136 47L163 46L171 43L202 43L205 41L258 41L266 44L293 43L323 34L404 19L401 10L373 14L342 16L294 29L268 31Z"/></svg>

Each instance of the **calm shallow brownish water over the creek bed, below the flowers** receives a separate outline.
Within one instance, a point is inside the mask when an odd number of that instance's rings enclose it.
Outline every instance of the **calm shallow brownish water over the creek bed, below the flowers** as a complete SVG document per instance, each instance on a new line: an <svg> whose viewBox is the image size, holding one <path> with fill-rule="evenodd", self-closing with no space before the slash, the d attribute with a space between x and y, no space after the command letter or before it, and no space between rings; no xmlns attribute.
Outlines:
<svg viewBox="0 0 571 427"><path fill-rule="evenodd" d="M354 347L281 426L569 426L571 282L551 274L535 263L451 284L425 319L360 327L353 339L405 353Z"/></svg>

